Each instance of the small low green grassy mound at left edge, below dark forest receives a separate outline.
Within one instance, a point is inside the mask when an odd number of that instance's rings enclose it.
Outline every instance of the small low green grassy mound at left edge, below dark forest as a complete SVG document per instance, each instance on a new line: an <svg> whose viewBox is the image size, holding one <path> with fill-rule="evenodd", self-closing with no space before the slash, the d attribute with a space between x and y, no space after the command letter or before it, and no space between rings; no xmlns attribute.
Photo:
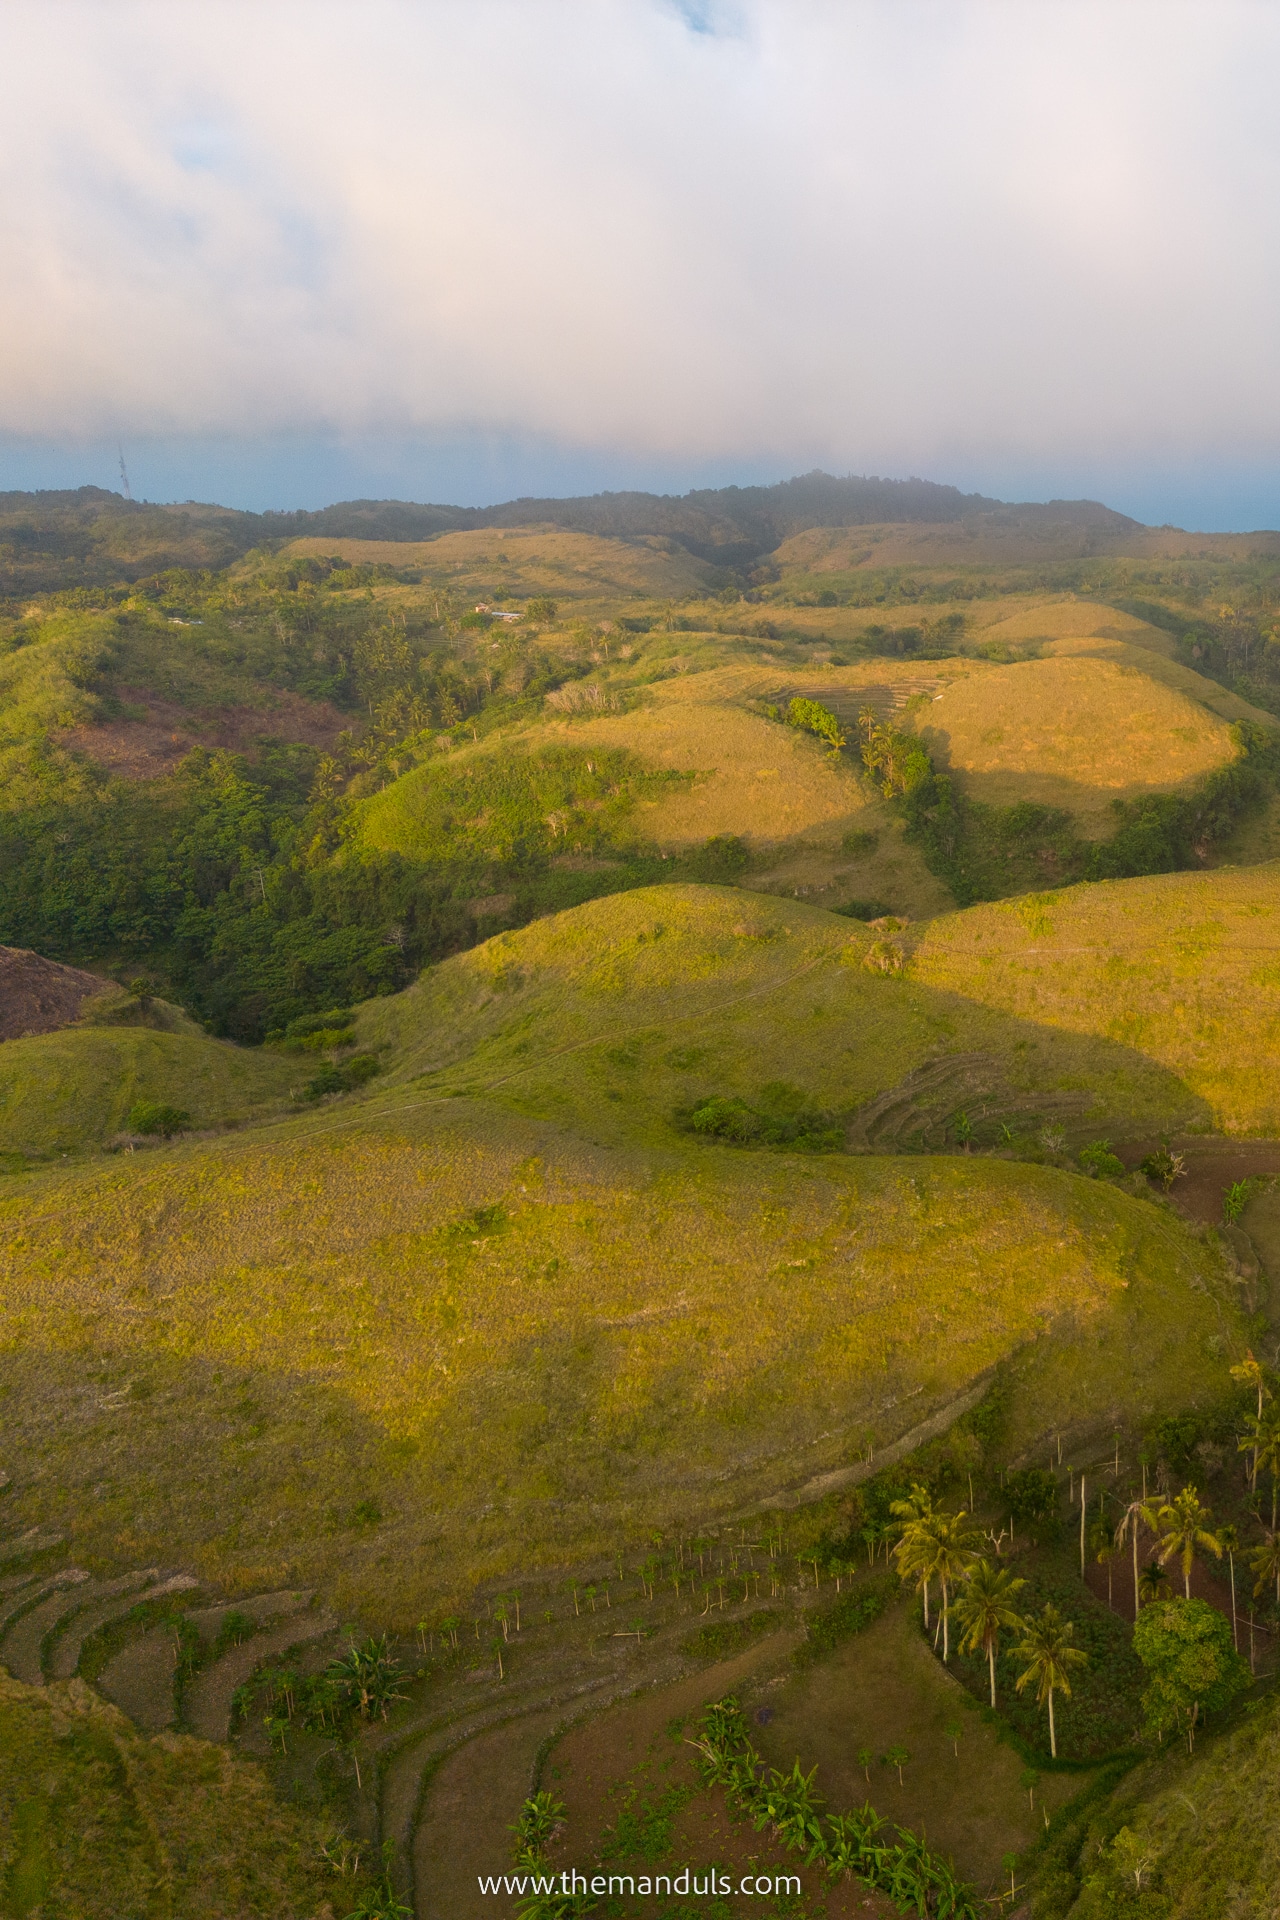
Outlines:
<svg viewBox="0 0 1280 1920"><path fill-rule="evenodd" d="M221 1127L278 1104L305 1079L297 1060L203 1033L63 1027L0 1046L0 1154L44 1158L100 1146L136 1100L184 1108Z"/></svg>

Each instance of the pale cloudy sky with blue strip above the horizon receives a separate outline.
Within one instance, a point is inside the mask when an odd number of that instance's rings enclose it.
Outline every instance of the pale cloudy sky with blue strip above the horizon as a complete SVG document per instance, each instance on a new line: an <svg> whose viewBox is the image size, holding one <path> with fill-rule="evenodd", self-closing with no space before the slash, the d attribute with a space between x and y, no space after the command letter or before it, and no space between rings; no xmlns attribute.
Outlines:
<svg viewBox="0 0 1280 1920"><path fill-rule="evenodd" d="M1280 524L1270 0L6 0L0 486Z"/></svg>

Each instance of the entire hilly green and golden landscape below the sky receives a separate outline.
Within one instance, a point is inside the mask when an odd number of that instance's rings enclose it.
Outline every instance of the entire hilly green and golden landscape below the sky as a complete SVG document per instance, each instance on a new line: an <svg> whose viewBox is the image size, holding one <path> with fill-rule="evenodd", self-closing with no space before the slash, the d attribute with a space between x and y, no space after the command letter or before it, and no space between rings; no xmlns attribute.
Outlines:
<svg viewBox="0 0 1280 1920"><path fill-rule="evenodd" d="M0 1910L1270 1910L1280 536L86 488L0 595Z"/></svg>

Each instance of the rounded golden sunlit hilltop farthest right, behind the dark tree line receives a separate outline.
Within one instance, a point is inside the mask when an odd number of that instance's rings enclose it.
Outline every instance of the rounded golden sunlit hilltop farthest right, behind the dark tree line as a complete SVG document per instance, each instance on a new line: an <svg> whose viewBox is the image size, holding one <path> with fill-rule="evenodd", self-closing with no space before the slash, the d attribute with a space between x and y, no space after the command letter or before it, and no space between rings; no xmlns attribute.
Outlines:
<svg viewBox="0 0 1280 1920"><path fill-rule="evenodd" d="M1222 718L1123 651L1130 660L1054 655L956 680L919 732L975 801L1065 806L1102 837L1115 828L1111 801L1186 787L1240 751Z"/></svg>

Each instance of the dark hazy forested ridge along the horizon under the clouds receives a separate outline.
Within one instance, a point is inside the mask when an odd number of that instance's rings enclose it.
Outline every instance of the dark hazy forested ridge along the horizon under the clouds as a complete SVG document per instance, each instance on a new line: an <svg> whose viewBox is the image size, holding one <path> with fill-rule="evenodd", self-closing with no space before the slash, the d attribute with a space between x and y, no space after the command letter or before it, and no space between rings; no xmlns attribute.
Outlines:
<svg viewBox="0 0 1280 1920"><path fill-rule="evenodd" d="M587 493L510 499L495 507L347 499L319 511L242 513L186 501L127 501L106 488L0 493L0 591L46 584L130 580L165 566L226 566L265 541L303 534L332 540L418 541L434 534L505 526L560 526L624 540L672 540L702 561L739 568L806 528L956 524L1038 528L1069 522L1119 538L1142 522L1100 501L1013 505L933 480L810 472L773 486L699 488L691 493Z"/></svg>

